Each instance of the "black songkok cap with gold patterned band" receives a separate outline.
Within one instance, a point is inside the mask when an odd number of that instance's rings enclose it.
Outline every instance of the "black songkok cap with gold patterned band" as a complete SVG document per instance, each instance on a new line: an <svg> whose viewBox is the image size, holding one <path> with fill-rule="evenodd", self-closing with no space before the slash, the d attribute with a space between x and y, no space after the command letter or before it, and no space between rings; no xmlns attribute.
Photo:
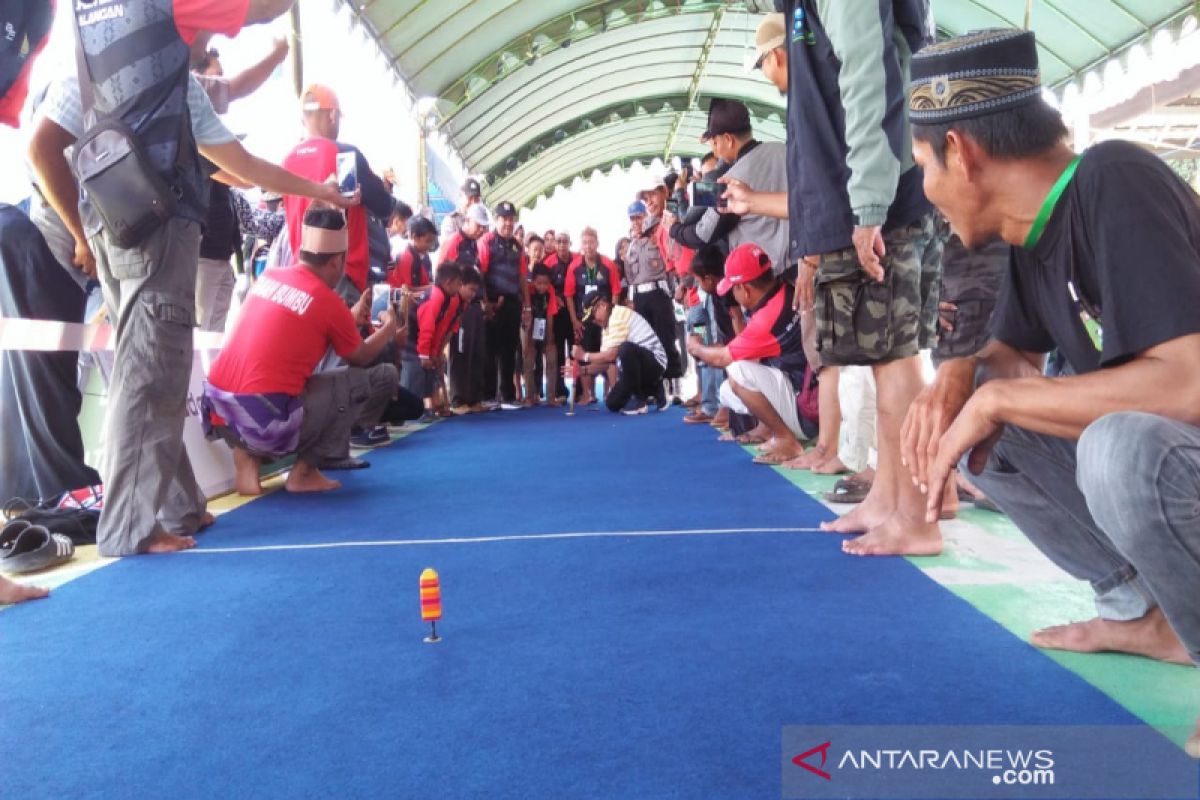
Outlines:
<svg viewBox="0 0 1200 800"><path fill-rule="evenodd" d="M995 28L931 44L912 58L908 116L944 125L1042 97L1033 31Z"/></svg>

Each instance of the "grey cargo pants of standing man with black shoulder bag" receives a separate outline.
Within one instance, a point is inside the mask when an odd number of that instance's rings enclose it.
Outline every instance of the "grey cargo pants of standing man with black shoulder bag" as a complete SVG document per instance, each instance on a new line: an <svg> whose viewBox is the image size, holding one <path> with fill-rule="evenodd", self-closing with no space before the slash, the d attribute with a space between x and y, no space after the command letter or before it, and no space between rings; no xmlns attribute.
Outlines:
<svg viewBox="0 0 1200 800"><path fill-rule="evenodd" d="M184 449L200 225L172 218L137 249L91 249L116 351L104 419L101 555L130 555L163 530L193 534L205 498Z"/></svg>

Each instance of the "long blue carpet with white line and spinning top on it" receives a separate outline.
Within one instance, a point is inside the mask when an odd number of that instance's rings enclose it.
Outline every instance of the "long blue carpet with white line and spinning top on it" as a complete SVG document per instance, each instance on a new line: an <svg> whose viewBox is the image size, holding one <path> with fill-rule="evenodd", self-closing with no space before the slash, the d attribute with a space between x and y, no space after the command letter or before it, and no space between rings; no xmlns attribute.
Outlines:
<svg viewBox="0 0 1200 800"><path fill-rule="evenodd" d="M337 495L222 517L203 547L827 516L677 414L455 420L372 462ZM839 543L125 559L0 614L0 795L778 798L782 726L1134 722L908 563Z"/></svg>

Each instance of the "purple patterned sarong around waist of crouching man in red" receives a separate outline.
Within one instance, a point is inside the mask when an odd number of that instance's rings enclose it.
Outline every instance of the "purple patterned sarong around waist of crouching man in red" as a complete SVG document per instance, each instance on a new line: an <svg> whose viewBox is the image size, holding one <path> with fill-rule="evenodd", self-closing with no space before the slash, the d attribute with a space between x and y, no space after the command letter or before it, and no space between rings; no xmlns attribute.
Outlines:
<svg viewBox="0 0 1200 800"><path fill-rule="evenodd" d="M263 456L282 457L300 445L304 405L299 397L282 393L234 395L204 384L200 399L204 435L215 438L212 414L247 450Z"/></svg>

